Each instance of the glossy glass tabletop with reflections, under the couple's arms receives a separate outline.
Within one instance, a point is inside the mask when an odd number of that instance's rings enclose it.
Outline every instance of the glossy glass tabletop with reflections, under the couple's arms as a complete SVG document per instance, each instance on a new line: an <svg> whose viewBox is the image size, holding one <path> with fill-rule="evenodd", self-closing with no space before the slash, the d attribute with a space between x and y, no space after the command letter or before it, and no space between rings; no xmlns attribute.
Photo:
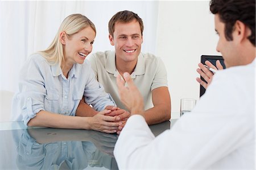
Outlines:
<svg viewBox="0 0 256 170"><path fill-rule="evenodd" d="M175 121L150 128L159 135ZM22 122L1 123L0 133L0 169L118 169L113 155L117 134L24 128Z"/></svg>

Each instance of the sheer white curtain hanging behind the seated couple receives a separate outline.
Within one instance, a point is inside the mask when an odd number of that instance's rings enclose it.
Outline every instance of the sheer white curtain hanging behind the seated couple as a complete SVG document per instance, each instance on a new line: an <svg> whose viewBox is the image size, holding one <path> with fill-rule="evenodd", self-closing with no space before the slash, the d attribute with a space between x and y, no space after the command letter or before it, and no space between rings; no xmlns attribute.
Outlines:
<svg viewBox="0 0 256 170"><path fill-rule="evenodd" d="M70 14L83 14L96 25L93 52L114 49L108 39L108 22L121 10L134 11L143 18L142 50L155 53L156 1L1 1L1 90L16 91L24 61L48 47Z"/></svg>

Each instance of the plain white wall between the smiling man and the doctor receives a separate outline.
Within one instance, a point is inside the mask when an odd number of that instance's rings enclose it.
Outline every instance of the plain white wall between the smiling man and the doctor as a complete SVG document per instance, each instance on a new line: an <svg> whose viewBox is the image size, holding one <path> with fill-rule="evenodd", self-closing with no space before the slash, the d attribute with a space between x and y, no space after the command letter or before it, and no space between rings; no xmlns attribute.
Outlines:
<svg viewBox="0 0 256 170"><path fill-rule="evenodd" d="M168 73L172 112L180 109L180 98L199 99L196 72L201 55L217 55L218 36L209 1L160 1L156 55Z"/></svg>

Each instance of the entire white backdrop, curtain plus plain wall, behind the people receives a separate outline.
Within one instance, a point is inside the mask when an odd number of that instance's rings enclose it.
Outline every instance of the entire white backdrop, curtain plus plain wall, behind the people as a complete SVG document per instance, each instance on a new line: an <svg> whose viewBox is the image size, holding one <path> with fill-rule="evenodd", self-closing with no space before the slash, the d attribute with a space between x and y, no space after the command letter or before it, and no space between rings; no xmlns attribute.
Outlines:
<svg viewBox="0 0 256 170"><path fill-rule="evenodd" d="M24 61L47 48L62 20L73 13L96 25L93 52L114 49L108 22L115 13L137 13L144 22L142 51L166 64L173 112L179 111L180 98L199 98L195 78L200 56L218 54L209 1L1 1L0 10L0 90L16 91Z"/></svg>

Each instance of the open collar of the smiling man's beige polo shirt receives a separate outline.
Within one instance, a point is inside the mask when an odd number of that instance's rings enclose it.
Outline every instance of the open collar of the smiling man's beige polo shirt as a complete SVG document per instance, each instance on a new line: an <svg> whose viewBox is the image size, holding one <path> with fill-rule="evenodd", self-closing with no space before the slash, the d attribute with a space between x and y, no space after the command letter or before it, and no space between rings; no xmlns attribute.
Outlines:
<svg viewBox="0 0 256 170"><path fill-rule="evenodd" d="M114 74L114 77L117 77L119 72L117 71L117 67L115 67L115 51L111 51L106 56L106 71L108 73ZM145 60L142 53L139 53L137 64L133 73L131 73L131 78L135 78L137 75L143 75L145 73Z"/></svg>

